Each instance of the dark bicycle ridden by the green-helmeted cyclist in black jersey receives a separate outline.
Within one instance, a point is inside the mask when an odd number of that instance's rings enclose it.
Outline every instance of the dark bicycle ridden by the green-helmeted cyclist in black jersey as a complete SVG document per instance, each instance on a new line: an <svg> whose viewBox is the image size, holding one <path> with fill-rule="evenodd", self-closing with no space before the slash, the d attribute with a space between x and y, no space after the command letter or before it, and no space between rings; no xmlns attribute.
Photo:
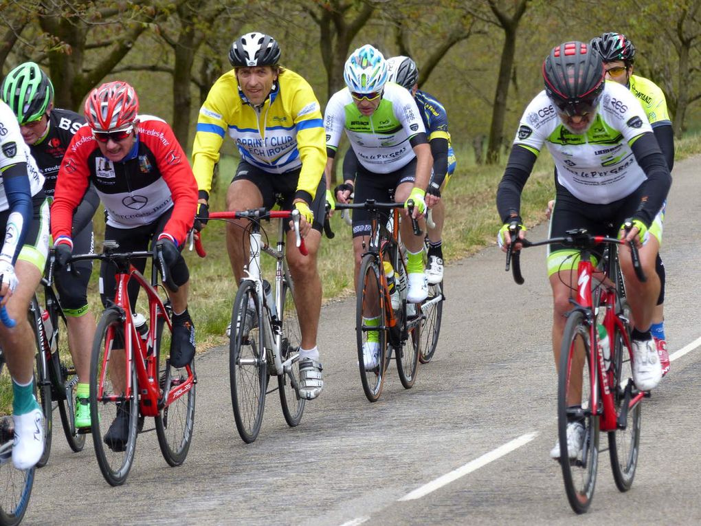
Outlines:
<svg viewBox="0 0 701 526"><path fill-rule="evenodd" d="M46 272L41 278L43 288L43 309L39 298L34 295L29 303L29 325L34 330L36 340L36 379L37 400L44 413L44 452L36 467L46 465L51 452L53 413L56 409L69 447L74 452L83 450L85 434L75 426L76 400L75 386L78 376L68 346L66 316L60 301L53 290L53 269L55 252L49 252Z"/></svg>

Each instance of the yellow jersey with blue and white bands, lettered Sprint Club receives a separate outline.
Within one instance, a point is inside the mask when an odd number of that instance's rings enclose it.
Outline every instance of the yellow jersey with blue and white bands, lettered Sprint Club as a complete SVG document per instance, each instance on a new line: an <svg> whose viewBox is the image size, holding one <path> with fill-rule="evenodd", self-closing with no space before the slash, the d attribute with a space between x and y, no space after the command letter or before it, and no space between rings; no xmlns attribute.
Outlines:
<svg viewBox="0 0 701 526"><path fill-rule="evenodd" d="M319 102L301 76L281 69L258 109L239 90L233 69L217 79L200 108L192 150L198 187L207 194L226 133L241 160L261 170L280 174L301 167L297 190L313 200L326 166L326 138Z"/></svg>

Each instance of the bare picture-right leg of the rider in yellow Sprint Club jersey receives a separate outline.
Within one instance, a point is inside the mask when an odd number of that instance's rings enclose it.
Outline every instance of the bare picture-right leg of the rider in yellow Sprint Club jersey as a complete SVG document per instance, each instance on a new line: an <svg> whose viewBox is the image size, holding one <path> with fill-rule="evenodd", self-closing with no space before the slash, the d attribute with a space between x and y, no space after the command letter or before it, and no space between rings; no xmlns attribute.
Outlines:
<svg viewBox="0 0 701 526"><path fill-rule="evenodd" d="M321 232L312 229L304 238L308 255L301 255L294 246L294 232L287 232L286 257L294 281L294 302L297 304L302 349L313 349L321 313L321 278L317 270L317 252Z"/></svg>

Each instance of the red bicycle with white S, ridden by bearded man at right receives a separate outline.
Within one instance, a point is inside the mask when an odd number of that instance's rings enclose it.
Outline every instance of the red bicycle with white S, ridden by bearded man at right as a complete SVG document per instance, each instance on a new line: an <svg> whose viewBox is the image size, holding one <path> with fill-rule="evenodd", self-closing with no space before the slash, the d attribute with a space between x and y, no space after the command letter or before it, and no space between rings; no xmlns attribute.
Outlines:
<svg viewBox="0 0 701 526"><path fill-rule="evenodd" d="M627 229L632 225L627 223ZM510 226L512 239L517 224ZM634 243L617 238L592 236L586 229L566 232L566 236L531 243L519 240L524 248L560 244L579 252L576 300L567 314L558 368L557 429L560 466L569 500L576 513L585 513L594 496L599 460L599 432L608 433L608 453L618 490L630 489L638 462L641 402L648 393L639 391L632 380L631 311L625 298L625 284L618 264L618 247L628 244L640 281L646 278ZM516 283L524 283L519 252L507 254ZM600 256L595 267L592 257ZM599 338L605 329L609 349ZM581 383L580 383L581 382ZM581 398L579 397L581 391ZM583 449L570 459L567 451L567 424L585 424ZM604 450L601 450L604 451Z"/></svg>

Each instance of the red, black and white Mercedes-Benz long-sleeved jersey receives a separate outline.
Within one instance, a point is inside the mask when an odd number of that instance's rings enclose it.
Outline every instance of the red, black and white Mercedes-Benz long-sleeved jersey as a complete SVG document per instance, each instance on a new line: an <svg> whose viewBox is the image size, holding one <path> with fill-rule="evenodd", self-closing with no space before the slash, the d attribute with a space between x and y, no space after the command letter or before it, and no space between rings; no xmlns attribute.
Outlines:
<svg viewBox="0 0 701 526"><path fill-rule="evenodd" d="M168 123L139 116L138 135L123 161L102 156L89 126L80 128L66 151L51 206L51 235L71 236L73 212L93 182L107 224L130 229L151 224L173 208L163 229L182 245L197 210L197 182Z"/></svg>

